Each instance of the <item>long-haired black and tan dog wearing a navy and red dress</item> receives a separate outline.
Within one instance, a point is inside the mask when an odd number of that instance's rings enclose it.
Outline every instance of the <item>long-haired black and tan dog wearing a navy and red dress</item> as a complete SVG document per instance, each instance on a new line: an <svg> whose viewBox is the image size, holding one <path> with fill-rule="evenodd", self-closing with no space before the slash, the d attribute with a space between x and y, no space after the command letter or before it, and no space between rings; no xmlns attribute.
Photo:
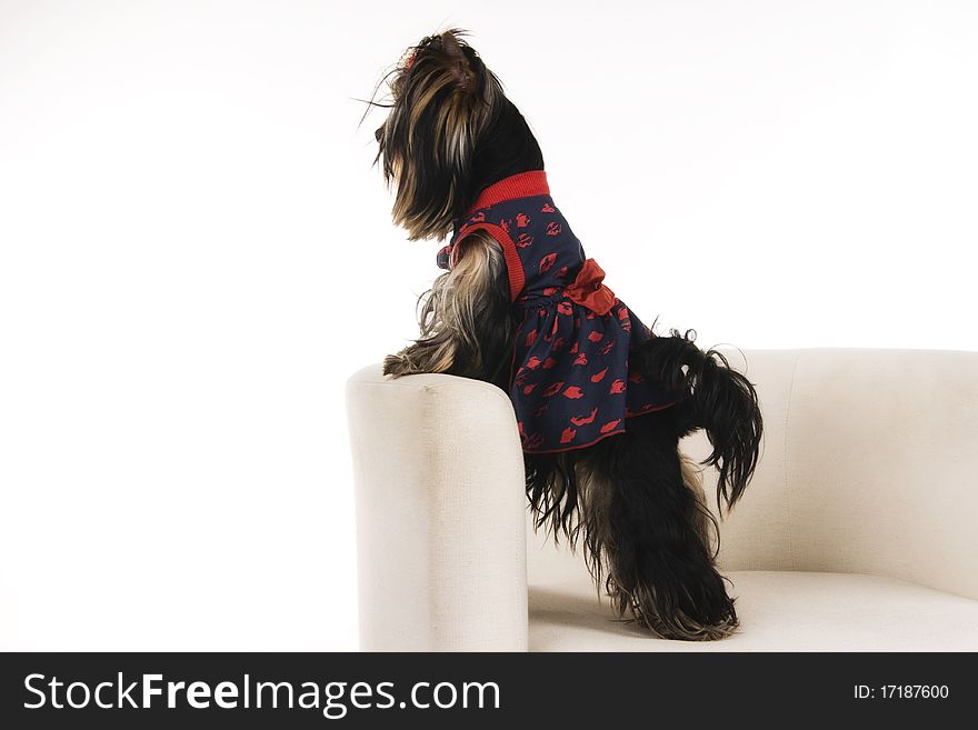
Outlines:
<svg viewBox="0 0 978 730"><path fill-rule="evenodd" d="M656 334L603 282L550 196L543 157L496 74L451 29L381 80L376 131L395 224L443 240L420 337L385 359L399 378L448 373L512 399L537 529L582 548L617 613L663 639L734 633L718 522L679 440L703 430L717 512L758 462L757 392L695 330ZM368 111L371 107L368 107ZM366 118L366 112L365 112ZM655 327L652 323L652 327ZM713 537L716 536L716 549Z"/></svg>

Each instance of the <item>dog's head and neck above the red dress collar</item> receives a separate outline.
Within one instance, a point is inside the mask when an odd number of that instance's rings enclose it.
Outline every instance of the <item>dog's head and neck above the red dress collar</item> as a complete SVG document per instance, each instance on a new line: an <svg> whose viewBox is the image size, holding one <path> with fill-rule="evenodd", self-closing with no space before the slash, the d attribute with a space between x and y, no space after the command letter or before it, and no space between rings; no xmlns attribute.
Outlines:
<svg viewBox="0 0 978 730"><path fill-rule="evenodd" d="M502 84L452 29L408 49L389 74L377 161L397 188L393 222L410 240L442 238L479 191L543 169L540 148Z"/></svg>

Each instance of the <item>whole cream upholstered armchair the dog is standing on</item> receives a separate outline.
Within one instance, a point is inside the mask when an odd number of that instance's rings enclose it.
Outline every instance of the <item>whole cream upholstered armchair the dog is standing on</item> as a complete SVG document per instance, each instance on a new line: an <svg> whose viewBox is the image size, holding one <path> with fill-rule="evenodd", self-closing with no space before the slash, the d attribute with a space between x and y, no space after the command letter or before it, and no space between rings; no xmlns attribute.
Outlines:
<svg viewBox="0 0 978 730"><path fill-rule="evenodd" d="M616 621L580 557L532 531L506 394L373 366L347 387L361 649L978 650L978 353L748 350L746 368L725 353L766 427L721 521L737 634L666 641ZM701 434L682 449L709 453Z"/></svg>

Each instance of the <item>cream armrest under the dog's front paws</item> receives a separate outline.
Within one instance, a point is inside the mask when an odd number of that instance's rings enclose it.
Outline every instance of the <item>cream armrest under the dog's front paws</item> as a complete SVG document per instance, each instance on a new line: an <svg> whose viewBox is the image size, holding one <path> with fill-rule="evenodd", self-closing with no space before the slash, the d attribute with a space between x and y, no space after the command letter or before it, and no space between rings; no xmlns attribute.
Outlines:
<svg viewBox="0 0 978 730"><path fill-rule="evenodd" d="M512 406L452 376L347 383L363 651L526 651L526 489Z"/></svg>

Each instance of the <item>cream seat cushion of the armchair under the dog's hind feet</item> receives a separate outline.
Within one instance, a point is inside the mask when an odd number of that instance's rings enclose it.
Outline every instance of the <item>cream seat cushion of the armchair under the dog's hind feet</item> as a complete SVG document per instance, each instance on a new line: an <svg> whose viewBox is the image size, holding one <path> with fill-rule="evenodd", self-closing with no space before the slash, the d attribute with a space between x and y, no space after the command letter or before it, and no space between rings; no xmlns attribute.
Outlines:
<svg viewBox="0 0 978 730"><path fill-rule="evenodd" d="M578 576L531 584L530 651L978 651L978 601L891 578L734 571L738 633L665 641Z"/></svg>

